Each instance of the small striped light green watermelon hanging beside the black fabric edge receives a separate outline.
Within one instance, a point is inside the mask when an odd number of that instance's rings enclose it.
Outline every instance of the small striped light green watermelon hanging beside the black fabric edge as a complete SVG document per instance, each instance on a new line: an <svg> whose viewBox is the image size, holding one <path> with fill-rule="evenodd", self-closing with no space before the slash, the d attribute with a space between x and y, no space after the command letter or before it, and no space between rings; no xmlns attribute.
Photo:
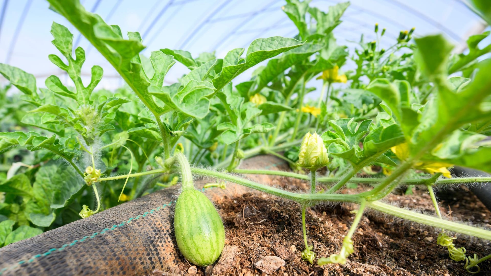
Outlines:
<svg viewBox="0 0 491 276"><path fill-rule="evenodd" d="M174 232L179 250L195 265L213 264L225 244L225 229L215 206L194 189L182 192L177 198Z"/></svg>

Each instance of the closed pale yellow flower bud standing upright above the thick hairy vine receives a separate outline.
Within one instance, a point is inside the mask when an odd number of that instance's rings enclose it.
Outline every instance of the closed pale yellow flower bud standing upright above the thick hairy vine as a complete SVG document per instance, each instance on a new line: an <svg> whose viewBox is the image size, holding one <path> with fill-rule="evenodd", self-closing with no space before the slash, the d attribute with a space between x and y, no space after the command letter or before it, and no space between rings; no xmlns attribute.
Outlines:
<svg viewBox="0 0 491 276"><path fill-rule="evenodd" d="M329 158L324 140L317 133L305 134L300 145L297 165L315 171L327 164L329 164Z"/></svg>

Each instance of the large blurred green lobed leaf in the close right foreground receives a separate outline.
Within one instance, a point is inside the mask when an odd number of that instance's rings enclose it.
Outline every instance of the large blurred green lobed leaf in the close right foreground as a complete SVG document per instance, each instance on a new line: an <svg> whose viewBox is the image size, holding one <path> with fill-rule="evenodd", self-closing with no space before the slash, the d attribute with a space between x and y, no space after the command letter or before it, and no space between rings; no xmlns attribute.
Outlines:
<svg viewBox="0 0 491 276"><path fill-rule="evenodd" d="M412 138L409 142L415 144L414 151L424 150L427 147L436 146L454 130L464 124L475 121L486 121L491 119L491 111L485 109L483 102L491 94L491 79L488 76L491 70L491 62L488 60L482 63L474 78L474 81L464 87L459 92L454 92L445 76L446 71L441 71L440 66L446 64L445 57L442 57L442 49L450 49L448 42L443 38L436 39L432 36L428 38L416 39L418 52L420 55L419 62L423 64L420 67L434 68L429 70L430 75L436 80L438 91L425 106L418 126L414 129ZM428 45L435 43L431 47ZM448 59L447 52L446 58ZM435 60L437 56L437 60ZM438 62L440 66L430 65L428 63ZM446 68L446 67L444 67ZM428 72L427 72L428 73Z"/></svg>

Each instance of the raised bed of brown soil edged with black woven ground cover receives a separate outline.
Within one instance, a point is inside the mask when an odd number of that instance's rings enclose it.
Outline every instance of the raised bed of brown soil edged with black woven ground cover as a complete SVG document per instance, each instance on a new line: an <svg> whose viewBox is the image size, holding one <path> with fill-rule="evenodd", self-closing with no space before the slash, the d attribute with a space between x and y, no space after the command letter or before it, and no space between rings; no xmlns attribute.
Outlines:
<svg viewBox="0 0 491 276"><path fill-rule="evenodd" d="M257 156L242 168L288 169L270 156ZM279 176L247 175L261 183L291 191L307 191L301 180ZM197 187L211 179L198 179ZM359 187L358 189L366 189ZM153 193L75 221L39 236L0 248L1 275L470 275L463 262L448 257L436 245L439 229L402 221L369 211L354 235L355 253L345 265L310 265L300 259L304 248L300 206L292 201L227 183L204 193L214 201L225 224L225 248L217 264L196 268L179 253L172 233L172 201L178 187ZM350 193L345 190L343 193ZM447 189L440 193L440 210L449 220L491 227L491 212L470 191ZM425 213L434 213L429 195L393 194L392 201ZM352 204L324 204L307 211L309 244L317 256L337 253L356 208ZM457 247L481 257L489 241L459 236ZM285 264L274 270L277 256ZM275 258L277 260L277 258ZM271 264L270 264L271 262ZM281 263L280 263L281 264ZM272 267L268 267L271 265ZM260 270L259 268L262 268ZM490 262L480 264L480 275L491 275Z"/></svg>

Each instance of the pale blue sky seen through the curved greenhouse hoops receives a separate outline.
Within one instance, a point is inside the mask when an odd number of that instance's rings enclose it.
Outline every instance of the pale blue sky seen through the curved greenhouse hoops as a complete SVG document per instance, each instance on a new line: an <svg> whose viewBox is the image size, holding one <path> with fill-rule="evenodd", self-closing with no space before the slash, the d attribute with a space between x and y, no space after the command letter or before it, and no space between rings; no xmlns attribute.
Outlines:
<svg viewBox="0 0 491 276"><path fill-rule="evenodd" d="M337 2L340 1L312 0L311 5L327 11ZM255 38L293 37L298 33L281 10L284 0L81 0L81 3L109 24L119 25L123 33L139 31L147 46L142 54L147 56L151 51L170 48L190 51L193 56L216 51L217 57L222 58L232 49L246 48ZM105 77L98 88L114 89L123 84L104 57L63 17L48 9L47 1L0 0L0 9L4 6L0 62L33 74L39 87L44 86L50 75L60 76L62 82L70 85L66 75L48 59L49 54L59 54L51 44L50 34L51 25L56 22L69 27L74 33L74 45L84 48L87 56L82 74L87 75L86 82L90 67L100 65ZM341 20L343 23L334 34L338 44L349 46L351 54L355 49L352 41L359 40L361 33L366 41L374 39L375 23L379 23L380 29L387 29L381 43L388 48L400 30L412 27L416 28L415 36L440 32L458 45L479 22L462 0L352 0ZM246 81L253 69L234 83ZM165 83L176 82L188 71L176 63ZM2 82L5 79L0 78Z"/></svg>

